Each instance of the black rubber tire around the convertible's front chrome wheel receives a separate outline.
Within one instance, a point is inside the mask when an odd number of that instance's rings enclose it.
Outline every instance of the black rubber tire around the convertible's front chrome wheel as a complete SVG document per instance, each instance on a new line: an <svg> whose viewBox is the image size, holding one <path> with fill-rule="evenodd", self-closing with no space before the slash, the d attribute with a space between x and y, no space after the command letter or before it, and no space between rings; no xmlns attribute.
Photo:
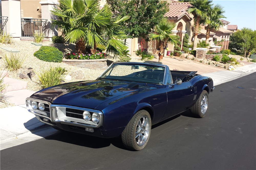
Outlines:
<svg viewBox="0 0 256 170"><path fill-rule="evenodd" d="M148 122L148 133L145 141L142 143L142 145L138 145L137 140L135 138L135 133L137 129L137 124L140 120L147 119ZM143 149L148 142L148 139L150 137L151 132L151 117L150 114L146 110L140 110L138 111L130 120L130 122L125 127L124 131L121 134L121 138L123 141L123 145L131 150L139 151ZM143 135L144 136L144 135Z"/></svg>

